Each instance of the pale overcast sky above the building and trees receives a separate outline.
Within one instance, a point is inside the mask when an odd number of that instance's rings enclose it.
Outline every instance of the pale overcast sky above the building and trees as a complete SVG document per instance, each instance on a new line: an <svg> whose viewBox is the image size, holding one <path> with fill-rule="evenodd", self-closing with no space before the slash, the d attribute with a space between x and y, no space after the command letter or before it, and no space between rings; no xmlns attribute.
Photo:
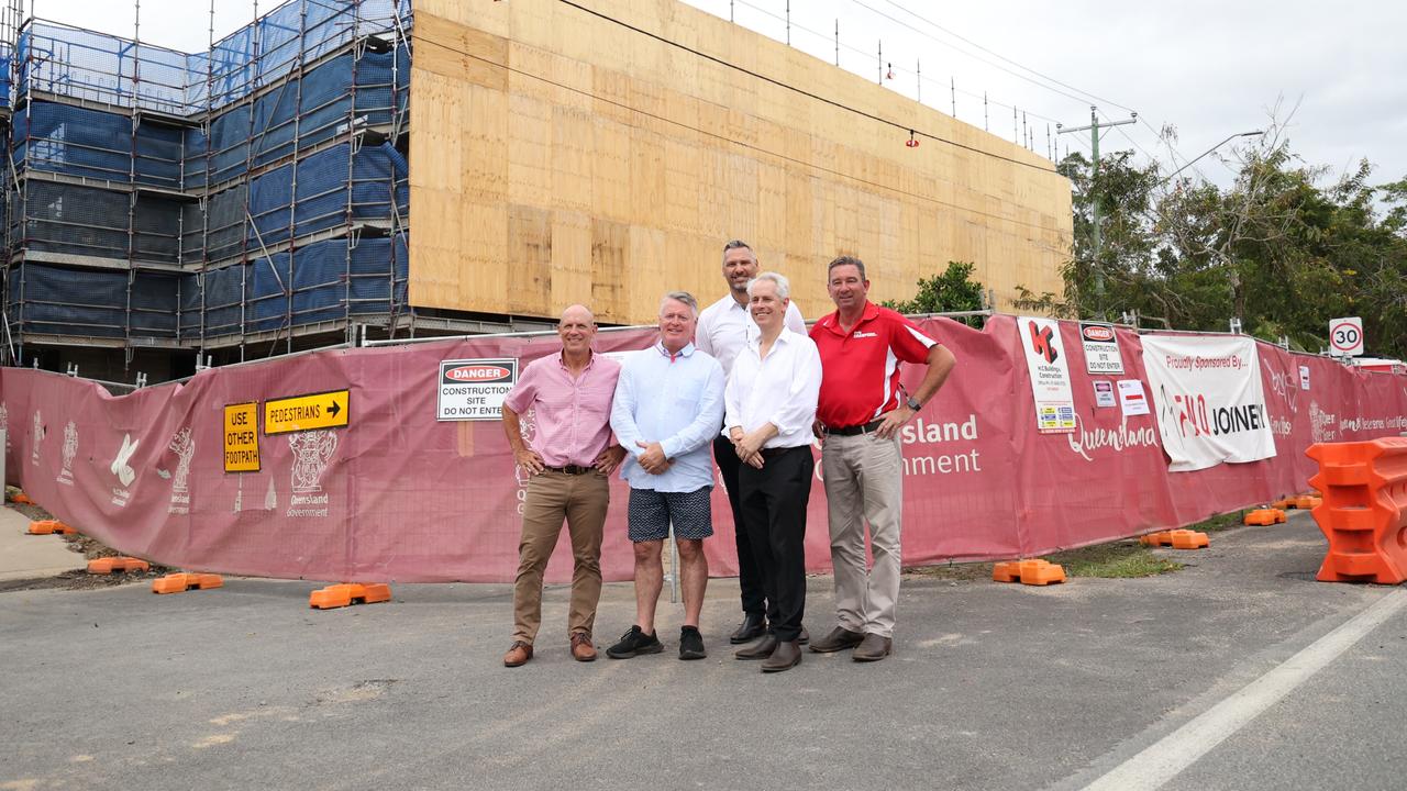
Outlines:
<svg viewBox="0 0 1407 791"><path fill-rule="evenodd" d="M729 18L729 0L688 1ZM262 11L272 7L260 3ZM739 24L785 39L787 0L732 7ZM1104 151L1134 149L1168 173L1228 135L1266 128L1279 104L1292 149L1327 166L1330 177L1363 158L1376 165L1379 183L1407 177L1407 3L791 0L791 7L794 46L834 61L839 20L843 68L878 79L882 42L895 77L886 87L915 97L922 72L923 101L951 113L955 84L957 117L1007 139L1016 107L1026 113L1030 148L1043 156L1057 142L1059 155L1067 146L1088 152L1088 132L1057 135L1054 127L1088 125L1096 104L1106 120L1130 111L1140 118L1107 131ZM252 8L249 0L217 0L215 37L246 23ZM121 0L35 0L35 14L132 34L132 3ZM142 0L144 41L203 51L208 28L205 0ZM1172 151L1158 135L1169 124ZM1024 139L1021 129L1017 124L1016 138ZM1233 145L1217 152L1231 153ZM1193 172L1221 184L1230 177L1217 155Z"/></svg>

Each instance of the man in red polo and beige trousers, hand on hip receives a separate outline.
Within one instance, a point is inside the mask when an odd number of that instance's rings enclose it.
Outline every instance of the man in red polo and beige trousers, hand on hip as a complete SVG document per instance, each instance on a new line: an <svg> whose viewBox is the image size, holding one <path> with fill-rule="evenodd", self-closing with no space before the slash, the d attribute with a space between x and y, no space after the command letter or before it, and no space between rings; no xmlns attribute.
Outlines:
<svg viewBox="0 0 1407 791"><path fill-rule="evenodd" d="M816 434L830 518L830 562L836 574L837 625L810 650L854 649L855 662L878 662L893 646L899 598L899 522L903 453L899 428L923 408L953 372L955 359L898 312L870 301L870 280L858 258L830 262L836 312L810 329L820 350ZM900 363L926 365L909 396L899 388ZM865 569L865 528L874 569Z"/></svg>

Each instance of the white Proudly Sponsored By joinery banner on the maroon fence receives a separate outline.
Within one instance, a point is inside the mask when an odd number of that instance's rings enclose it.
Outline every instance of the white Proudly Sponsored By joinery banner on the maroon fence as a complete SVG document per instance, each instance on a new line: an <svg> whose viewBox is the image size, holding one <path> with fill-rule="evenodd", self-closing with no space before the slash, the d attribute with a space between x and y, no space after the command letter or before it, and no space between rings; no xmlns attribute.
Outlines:
<svg viewBox="0 0 1407 791"><path fill-rule="evenodd" d="M1158 432L1173 473L1275 456L1254 338L1142 338Z"/></svg>

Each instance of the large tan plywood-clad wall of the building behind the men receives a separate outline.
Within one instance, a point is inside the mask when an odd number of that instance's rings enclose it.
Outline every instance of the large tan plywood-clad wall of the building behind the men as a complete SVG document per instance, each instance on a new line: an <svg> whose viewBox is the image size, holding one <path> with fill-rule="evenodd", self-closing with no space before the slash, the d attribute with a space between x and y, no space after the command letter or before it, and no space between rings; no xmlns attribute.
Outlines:
<svg viewBox="0 0 1407 791"><path fill-rule="evenodd" d="M791 277L808 318L833 310L841 253L865 260L877 300L948 260L974 262L999 307L1017 284L1061 291L1069 183L1044 158L674 0L577 4L599 15L416 0L414 305L556 317L580 301L653 322L667 290L723 296L733 238ZM948 142L906 148L854 110Z"/></svg>

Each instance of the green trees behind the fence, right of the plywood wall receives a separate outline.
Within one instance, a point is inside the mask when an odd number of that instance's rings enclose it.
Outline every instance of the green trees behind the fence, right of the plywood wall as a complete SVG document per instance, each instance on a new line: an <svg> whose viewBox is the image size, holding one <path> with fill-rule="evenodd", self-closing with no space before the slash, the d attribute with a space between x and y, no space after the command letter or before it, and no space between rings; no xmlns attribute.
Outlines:
<svg viewBox="0 0 1407 791"><path fill-rule="evenodd" d="M1157 165L1140 167L1130 152L1102 159L1097 172L1079 153L1058 169L1074 189L1074 255L1064 300L1023 290L1029 307L1137 311L1179 329L1224 331L1238 317L1248 334L1309 350L1327 345L1330 318L1362 315L1370 353L1407 353L1407 179L1375 186L1361 162L1325 183L1324 169L1273 135L1240 152L1225 189L1185 176L1164 183Z"/></svg>

